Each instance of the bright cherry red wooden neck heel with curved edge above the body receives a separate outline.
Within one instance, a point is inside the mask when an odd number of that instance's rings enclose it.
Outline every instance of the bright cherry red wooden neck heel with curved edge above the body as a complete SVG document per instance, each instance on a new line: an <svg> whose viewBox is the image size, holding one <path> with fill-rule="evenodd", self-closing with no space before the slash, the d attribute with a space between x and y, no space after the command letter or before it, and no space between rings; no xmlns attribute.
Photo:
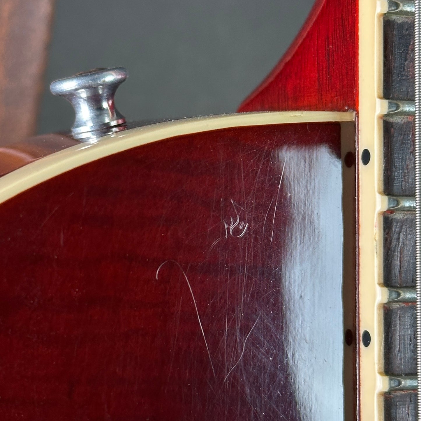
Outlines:
<svg viewBox="0 0 421 421"><path fill-rule="evenodd" d="M317 0L304 27L245 111L357 110L357 0Z"/></svg>

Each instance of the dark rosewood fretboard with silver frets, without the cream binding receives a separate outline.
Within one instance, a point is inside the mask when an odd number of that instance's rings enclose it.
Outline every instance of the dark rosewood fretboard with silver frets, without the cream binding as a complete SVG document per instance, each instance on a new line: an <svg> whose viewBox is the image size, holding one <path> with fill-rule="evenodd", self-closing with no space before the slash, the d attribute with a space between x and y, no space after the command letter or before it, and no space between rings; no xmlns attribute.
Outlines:
<svg viewBox="0 0 421 421"><path fill-rule="evenodd" d="M415 166L413 3L389 1L384 15L383 190L389 209L382 215L385 421L416 419Z"/></svg>

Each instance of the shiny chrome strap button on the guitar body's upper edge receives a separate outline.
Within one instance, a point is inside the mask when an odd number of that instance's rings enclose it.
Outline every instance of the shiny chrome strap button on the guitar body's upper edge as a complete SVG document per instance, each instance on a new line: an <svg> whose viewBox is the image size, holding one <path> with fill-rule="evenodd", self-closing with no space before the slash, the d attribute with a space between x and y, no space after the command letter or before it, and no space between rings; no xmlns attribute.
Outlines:
<svg viewBox="0 0 421 421"><path fill-rule="evenodd" d="M115 67L93 69L51 83L51 93L63 96L75 109L75 139L90 141L125 129L126 120L115 107L114 95L126 78L126 69Z"/></svg>

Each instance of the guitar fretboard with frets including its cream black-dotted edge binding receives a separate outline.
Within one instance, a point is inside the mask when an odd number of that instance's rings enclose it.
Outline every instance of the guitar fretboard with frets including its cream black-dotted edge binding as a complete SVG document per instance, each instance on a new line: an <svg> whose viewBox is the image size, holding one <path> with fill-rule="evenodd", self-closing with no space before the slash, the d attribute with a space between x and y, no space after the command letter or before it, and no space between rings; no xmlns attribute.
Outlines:
<svg viewBox="0 0 421 421"><path fill-rule="evenodd" d="M372 3L360 6L359 326L376 341L361 346L360 410L415 420L414 5Z"/></svg>

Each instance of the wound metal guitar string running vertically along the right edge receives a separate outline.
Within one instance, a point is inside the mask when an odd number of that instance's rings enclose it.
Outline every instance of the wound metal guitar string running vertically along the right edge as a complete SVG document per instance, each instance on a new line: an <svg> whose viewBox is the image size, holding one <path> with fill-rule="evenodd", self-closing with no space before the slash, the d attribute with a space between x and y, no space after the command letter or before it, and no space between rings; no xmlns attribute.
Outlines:
<svg viewBox="0 0 421 421"><path fill-rule="evenodd" d="M415 0L415 200L416 200L416 344L421 378L421 0ZM417 420L421 421L421 382L417 387Z"/></svg>

